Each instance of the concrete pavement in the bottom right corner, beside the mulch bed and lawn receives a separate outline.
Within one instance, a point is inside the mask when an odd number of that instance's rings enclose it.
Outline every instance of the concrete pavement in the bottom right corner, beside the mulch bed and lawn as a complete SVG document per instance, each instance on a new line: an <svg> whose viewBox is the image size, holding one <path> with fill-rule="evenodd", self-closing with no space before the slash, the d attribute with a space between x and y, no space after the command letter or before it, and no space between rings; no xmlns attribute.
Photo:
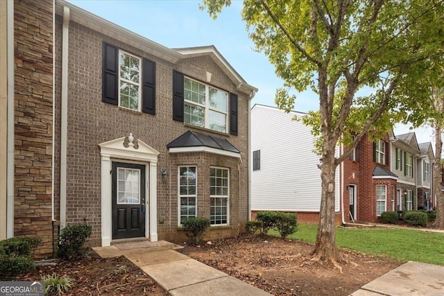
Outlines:
<svg viewBox="0 0 444 296"><path fill-rule="evenodd" d="M409 261L351 294L377 295L444 295L444 266Z"/></svg>

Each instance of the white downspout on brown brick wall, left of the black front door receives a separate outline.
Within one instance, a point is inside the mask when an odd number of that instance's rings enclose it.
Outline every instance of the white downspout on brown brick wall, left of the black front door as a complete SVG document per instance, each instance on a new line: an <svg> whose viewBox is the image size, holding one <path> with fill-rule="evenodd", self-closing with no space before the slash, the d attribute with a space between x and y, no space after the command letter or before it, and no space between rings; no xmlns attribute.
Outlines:
<svg viewBox="0 0 444 296"><path fill-rule="evenodd" d="M60 116L60 228L64 228L67 223L68 35L69 8L64 6L62 28L62 114Z"/></svg>

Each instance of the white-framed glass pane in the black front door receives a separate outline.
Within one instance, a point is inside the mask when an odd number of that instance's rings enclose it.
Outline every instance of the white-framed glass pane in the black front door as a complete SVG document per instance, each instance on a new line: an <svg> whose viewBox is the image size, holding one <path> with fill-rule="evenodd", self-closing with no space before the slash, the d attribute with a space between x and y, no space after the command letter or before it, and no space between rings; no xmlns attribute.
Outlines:
<svg viewBox="0 0 444 296"><path fill-rule="evenodd" d="M117 204L140 204L140 170L117 168Z"/></svg>

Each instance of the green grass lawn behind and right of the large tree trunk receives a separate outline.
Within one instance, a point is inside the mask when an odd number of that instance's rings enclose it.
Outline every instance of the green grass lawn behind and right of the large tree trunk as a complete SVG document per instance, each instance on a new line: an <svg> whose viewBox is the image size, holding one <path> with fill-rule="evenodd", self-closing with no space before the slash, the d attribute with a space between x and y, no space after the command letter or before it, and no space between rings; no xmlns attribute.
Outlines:
<svg viewBox="0 0 444 296"><path fill-rule="evenodd" d="M288 238L314 243L318 225L300 223ZM274 230L270 233L279 236ZM336 245L373 255L444 265L444 234L411 229L336 227Z"/></svg>

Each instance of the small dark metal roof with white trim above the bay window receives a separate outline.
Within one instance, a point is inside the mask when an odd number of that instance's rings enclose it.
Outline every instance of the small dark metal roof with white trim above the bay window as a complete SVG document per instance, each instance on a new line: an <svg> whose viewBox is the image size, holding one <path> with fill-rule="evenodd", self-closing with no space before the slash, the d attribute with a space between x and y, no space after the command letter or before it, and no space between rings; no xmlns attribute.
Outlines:
<svg viewBox="0 0 444 296"><path fill-rule="evenodd" d="M180 135L167 144L170 153L181 152L209 152L232 157L241 157L239 149L234 147L227 139L210 136L191 130Z"/></svg>

